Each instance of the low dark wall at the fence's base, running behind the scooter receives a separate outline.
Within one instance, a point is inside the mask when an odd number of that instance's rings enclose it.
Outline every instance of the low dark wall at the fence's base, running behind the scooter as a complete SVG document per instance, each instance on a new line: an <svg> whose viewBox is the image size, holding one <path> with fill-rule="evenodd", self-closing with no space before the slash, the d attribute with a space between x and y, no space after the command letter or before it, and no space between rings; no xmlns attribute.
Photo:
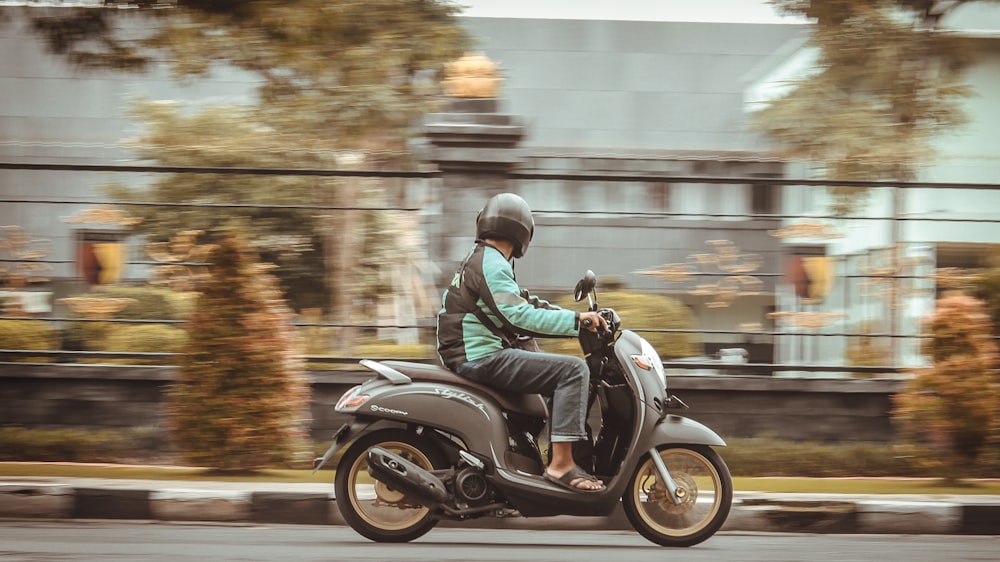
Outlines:
<svg viewBox="0 0 1000 562"><path fill-rule="evenodd" d="M340 395L365 372L313 374L312 434L328 439L344 422ZM163 430L170 367L0 364L0 426ZM807 441L889 442L890 396L898 380L790 380L676 376L680 412L723 438L769 436Z"/></svg>

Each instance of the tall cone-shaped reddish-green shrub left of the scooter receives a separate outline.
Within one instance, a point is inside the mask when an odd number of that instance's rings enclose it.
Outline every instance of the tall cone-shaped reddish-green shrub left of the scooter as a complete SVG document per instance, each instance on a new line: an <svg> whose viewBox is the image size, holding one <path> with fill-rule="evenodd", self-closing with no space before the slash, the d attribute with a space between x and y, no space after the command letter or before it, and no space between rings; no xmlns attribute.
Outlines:
<svg viewBox="0 0 1000 562"><path fill-rule="evenodd" d="M224 471L308 458L309 383L292 314L248 244L222 237L167 394L185 460Z"/></svg>

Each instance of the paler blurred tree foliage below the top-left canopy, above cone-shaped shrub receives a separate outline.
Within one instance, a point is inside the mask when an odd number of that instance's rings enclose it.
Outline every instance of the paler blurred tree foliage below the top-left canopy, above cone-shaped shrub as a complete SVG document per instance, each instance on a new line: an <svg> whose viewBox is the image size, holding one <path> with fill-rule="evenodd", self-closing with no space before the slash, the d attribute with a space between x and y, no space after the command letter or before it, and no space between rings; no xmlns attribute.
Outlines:
<svg viewBox="0 0 1000 562"><path fill-rule="evenodd" d="M276 145L274 130L257 119L253 108L208 107L194 114L184 109L173 103L137 103L133 115L145 121L146 130L130 141L134 153L176 166L274 168L303 162L299 147ZM320 213L294 206L314 204L323 192L335 189L336 182L324 178L222 174L158 174L148 185L106 186L119 201L204 205L130 209L143 219L135 232L150 243L195 229L205 233L198 243L211 244L221 227L238 217L261 258L278 266L275 275L295 310L327 308L329 288ZM181 255L165 257L191 261Z"/></svg>

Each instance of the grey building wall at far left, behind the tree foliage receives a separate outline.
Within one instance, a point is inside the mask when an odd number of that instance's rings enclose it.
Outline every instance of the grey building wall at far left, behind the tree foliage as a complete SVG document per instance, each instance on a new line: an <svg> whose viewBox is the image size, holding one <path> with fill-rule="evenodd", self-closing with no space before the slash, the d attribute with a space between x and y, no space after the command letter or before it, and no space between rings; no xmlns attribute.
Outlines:
<svg viewBox="0 0 1000 562"><path fill-rule="evenodd" d="M180 81L165 66L144 74L82 71L47 52L30 30L28 15L59 8L0 7L0 161L58 164L137 164L127 147L139 124L129 115L136 99L177 103L247 103L257 79L219 67L204 80ZM126 17L125 21L130 21ZM101 185L131 186L151 175L0 170L0 197L52 199L61 204L0 204L0 225L18 225L33 238L51 240L48 259L54 278L74 278L78 229L114 230L108 225L69 224L66 218L103 200ZM74 203L79 201L80 203ZM4 256L0 256L4 257ZM133 260L148 259L138 248ZM142 278L133 266L127 278Z"/></svg>

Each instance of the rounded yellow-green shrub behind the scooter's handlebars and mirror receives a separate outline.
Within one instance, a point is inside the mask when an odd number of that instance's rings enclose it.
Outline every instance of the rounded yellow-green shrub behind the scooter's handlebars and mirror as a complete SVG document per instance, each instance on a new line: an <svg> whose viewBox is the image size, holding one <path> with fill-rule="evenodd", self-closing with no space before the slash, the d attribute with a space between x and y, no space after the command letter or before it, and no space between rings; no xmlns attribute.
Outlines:
<svg viewBox="0 0 1000 562"><path fill-rule="evenodd" d="M690 330L695 326L691 311L677 299L624 291L599 292L598 298L602 307L613 308L618 312L626 329ZM572 297L559 299L555 304L571 310L586 310L585 302L573 302ZM664 360L702 354L696 334L641 332L640 335L649 340ZM543 350L551 353L580 354L580 345L576 340L545 339L540 344Z"/></svg>

